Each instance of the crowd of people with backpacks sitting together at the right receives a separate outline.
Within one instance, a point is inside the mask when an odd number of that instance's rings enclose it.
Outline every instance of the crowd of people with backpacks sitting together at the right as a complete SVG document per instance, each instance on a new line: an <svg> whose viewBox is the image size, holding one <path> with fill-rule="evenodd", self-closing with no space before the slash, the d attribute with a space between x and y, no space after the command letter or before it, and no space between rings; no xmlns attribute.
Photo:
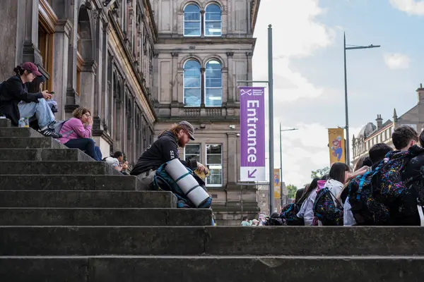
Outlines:
<svg viewBox="0 0 424 282"><path fill-rule="evenodd" d="M392 135L394 148L373 145L353 171L343 163L314 178L292 204L305 226L420 225L424 132L402 125ZM280 216L290 221L288 207ZM368 219L367 215L372 218ZM290 225L290 224L289 224Z"/></svg>

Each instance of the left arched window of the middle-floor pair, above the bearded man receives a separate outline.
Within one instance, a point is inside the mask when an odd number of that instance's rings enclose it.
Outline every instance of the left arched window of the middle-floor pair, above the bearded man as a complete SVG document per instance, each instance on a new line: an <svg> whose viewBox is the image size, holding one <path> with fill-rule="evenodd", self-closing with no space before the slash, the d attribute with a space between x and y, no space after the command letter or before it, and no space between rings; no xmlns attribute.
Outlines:
<svg viewBox="0 0 424 282"><path fill-rule="evenodd" d="M189 60L184 63L184 105L200 106L201 104L201 75L200 63Z"/></svg>

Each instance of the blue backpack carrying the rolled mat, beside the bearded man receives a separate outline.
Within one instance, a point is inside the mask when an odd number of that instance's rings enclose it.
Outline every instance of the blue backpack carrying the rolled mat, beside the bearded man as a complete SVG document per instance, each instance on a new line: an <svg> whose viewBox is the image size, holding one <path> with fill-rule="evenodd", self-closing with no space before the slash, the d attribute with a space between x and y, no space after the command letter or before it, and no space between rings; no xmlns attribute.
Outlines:
<svg viewBox="0 0 424 282"><path fill-rule="evenodd" d="M187 195L182 192L182 190L179 188L175 180L171 178L171 176L165 171L167 163L160 166L156 172L155 176L153 176L153 189L154 190L162 190L162 191L171 191L174 193L174 195L177 197L177 207L179 208L196 208L196 206L192 203L192 201L189 200ZM187 167L186 167L187 168ZM190 168L187 168L187 172L192 174L194 179L197 180L201 188L203 188L206 192L205 183L199 176L196 175ZM208 200L204 202L204 204L201 205L201 209L208 209L211 207L212 204L212 198L208 197Z"/></svg>

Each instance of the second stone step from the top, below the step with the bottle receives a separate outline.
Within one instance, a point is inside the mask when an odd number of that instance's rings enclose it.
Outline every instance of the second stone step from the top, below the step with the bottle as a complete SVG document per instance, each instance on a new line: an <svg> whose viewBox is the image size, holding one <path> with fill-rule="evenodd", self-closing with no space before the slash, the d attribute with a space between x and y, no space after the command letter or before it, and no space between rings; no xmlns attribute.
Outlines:
<svg viewBox="0 0 424 282"><path fill-rule="evenodd" d="M52 137L0 137L0 149L66 148Z"/></svg>

